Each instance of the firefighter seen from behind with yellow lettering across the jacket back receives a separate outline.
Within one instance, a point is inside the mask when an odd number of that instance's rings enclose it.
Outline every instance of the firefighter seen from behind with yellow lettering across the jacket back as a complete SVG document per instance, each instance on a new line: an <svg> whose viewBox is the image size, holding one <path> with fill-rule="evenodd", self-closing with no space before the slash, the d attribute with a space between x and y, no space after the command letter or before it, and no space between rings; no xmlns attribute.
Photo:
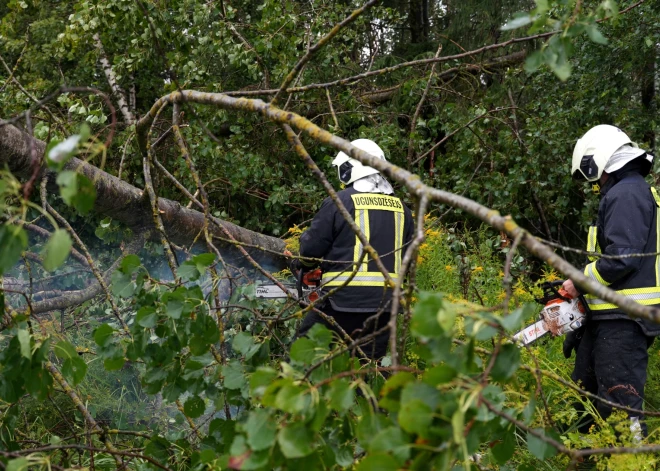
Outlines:
<svg viewBox="0 0 660 471"><path fill-rule="evenodd" d="M352 144L385 160L382 149L373 141L358 139ZM343 152L332 164L338 170L339 180L346 185L337 193L339 199L379 254L390 277L396 281L403 276L400 273L401 260L413 237L410 210L393 195L392 186L376 169L362 165ZM321 263L324 291L340 289L319 308L351 338L369 336L387 325L392 290L385 288L385 278L376 263L367 254L362 258L362 243L332 199L323 201L311 226L300 237L300 255L325 260ZM305 260L301 264L303 269L314 266L313 262ZM305 335L316 323L334 330L321 315L311 311L303 319L298 335ZM361 348L370 358L379 359L385 356L388 337L385 330Z"/></svg>

